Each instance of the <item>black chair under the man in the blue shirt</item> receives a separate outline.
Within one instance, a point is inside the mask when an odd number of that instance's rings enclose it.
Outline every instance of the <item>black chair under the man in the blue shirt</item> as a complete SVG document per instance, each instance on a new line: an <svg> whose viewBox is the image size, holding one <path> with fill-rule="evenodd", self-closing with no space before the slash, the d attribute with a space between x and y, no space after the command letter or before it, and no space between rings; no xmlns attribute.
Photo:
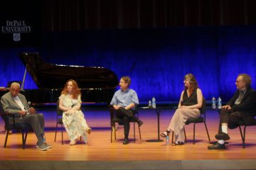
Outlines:
<svg viewBox="0 0 256 170"><path fill-rule="evenodd" d="M111 113L114 113L114 116L111 120L111 140L110 142L112 142L112 134L113 134L113 131L114 131L114 140L117 140L117 137L116 137L116 127L115 127L115 124L118 123L119 125L124 125L123 123L123 120L122 118L118 118L117 117L117 114L116 112L114 111L114 108L112 106L110 106L110 114ZM134 111L134 114L135 116L137 116L137 118L139 118L139 108L138 106L135 107L135 111ZM134 124L134 143L136 141L135 139L135 124L137 123L136 120L130 120L130 123L133 123ZM141 135L141 131L140 131L140 127L138 125L138 128L139 128L139 138L142 140L142 135Z"/></svg>

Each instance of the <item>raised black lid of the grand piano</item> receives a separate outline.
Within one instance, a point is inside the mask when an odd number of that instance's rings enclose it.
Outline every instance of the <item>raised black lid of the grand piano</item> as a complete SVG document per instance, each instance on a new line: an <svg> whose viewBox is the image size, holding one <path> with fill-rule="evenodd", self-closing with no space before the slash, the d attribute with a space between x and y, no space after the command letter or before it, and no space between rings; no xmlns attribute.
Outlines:
<svg viewBox="0 0 256 170"><path fill-rule="evenodd" d="M43 62L38 52L22 52L20 58L40 89L63 89L68 79L80 89L114 89L119 84L116 74L103 67L83 67Z"/></svg>

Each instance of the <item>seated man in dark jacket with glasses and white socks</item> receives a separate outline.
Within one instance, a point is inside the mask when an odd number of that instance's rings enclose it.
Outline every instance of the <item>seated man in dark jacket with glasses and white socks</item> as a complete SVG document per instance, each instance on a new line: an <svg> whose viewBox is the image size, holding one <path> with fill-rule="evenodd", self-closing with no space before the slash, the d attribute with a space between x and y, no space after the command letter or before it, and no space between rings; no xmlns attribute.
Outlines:
<svg viewBox="0 0 256 170"><path fill-rule="evenodd" d="M254 121L256 114L256 91L250 86L252 79L248 74L239 74L235 81L237 91L228 101L227 105L220 109L220 127L215 138L218 140L208 149L225 149L225 140L229 140L228 128L238 128L242 121L245 125L250 125Z"/></svg>

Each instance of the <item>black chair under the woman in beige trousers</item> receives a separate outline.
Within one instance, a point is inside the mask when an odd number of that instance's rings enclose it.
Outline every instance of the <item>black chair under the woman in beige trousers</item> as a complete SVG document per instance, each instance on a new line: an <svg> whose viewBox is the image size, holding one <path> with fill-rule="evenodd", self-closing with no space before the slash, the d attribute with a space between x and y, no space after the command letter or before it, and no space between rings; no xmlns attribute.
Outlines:
<svg viewBox="0 0 256 170"><path fill-rule="evenodd" d="M210 135L208 132L208 128L206 125L206 98L203 98L203 104L201 107L201 115L199 116L199 118L188 118L188 120L186 120L185 125L189 125L191 123L193 123L193 144L195 144L195 135L196 135L196 123L204 123L205 127L206 127L206 132L208 135L208 140L210 142ZM184 127L184 135L185 135L185 142L186 142L186 131L185 131L185 127ZM174 142L174 132L172 133L172 139L171 142Z"/></svg>

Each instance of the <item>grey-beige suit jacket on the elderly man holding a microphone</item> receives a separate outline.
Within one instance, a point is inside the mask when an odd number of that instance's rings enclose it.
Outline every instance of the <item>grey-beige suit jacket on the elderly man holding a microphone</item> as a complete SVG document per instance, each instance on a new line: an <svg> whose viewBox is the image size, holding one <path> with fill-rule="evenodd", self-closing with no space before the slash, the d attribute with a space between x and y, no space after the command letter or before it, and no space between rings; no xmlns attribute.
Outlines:
<svg viewBox="0 0 256 170"><path fill-rule="evenodd" d="M21 99L21 103L28 110L28 102L26 101L26 97L23 94L18 94L18 98ZM1 105L6 114L16 114L18 111L21 111L20 106L14 101L14 98L11 97L11 92L7 92L4 96L1 96Z"/></svg>

